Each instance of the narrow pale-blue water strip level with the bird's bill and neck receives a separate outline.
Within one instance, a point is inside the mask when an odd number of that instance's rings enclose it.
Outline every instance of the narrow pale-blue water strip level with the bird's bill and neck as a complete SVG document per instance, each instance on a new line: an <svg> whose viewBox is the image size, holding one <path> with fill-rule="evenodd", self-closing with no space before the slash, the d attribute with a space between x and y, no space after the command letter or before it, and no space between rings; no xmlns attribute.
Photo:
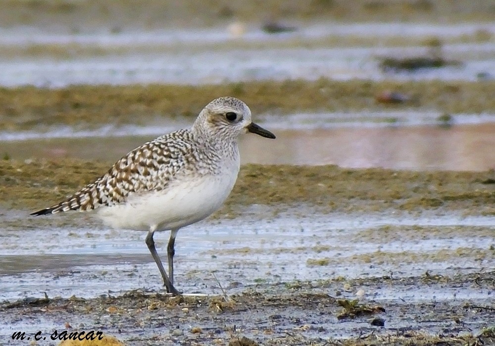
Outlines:
<svg viewBox="0 0 495 346"><path fill-rule="evenodd" d="M341 128L400 128L439 126L443 129L451 126L495 124L495 114L455 114L442 121L442 112L435 111L352 111L332 113L295 113L295 114L257 114L256 123L273 130L337 130ZM123 136L159 136L173 130L191 126L185 119L166 119L156 124L112 125L107 124L96 129L84 129L84 125L75 129L71 126L35 126L34 130L0 131L0 142L21 141L27 139L86 138L86 137L123 137ZM165 125L163 125L165 123Z"/></svg>

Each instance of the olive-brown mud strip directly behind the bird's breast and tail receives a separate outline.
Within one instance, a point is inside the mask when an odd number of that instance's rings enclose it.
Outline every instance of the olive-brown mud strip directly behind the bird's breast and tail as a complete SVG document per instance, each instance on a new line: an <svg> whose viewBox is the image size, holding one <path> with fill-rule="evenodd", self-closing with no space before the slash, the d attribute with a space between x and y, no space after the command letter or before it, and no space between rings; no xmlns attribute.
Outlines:
<svg viewBox="0 0 495 346"><path fill-rule="evenodd" d="M63 199L106 172L112 162L29 159L0 162L0 205L31 210ZM462 215L495 215L495 173L343 169L338 166L246 165L216 217L239 205L314 205L321 212L421 213L445 208ZM280 207L283 211L284 207Z"/></svg>

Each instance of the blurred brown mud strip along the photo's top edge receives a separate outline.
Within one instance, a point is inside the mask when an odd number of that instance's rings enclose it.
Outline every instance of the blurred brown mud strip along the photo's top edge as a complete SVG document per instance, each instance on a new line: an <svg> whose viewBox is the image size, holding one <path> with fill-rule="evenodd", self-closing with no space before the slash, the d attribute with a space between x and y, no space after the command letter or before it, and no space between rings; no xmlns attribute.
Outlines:
<svg viewBox="0 0 495 346"><path fill-rule="evenodd" d="M492 1L472 0L452 3L448 0L302 0L242 1L178 0L92 1L92 0L8 0L3 1L0 23L4 27L19 24L50 29L60 26L73 31L108 28L119 32L126 28L163 28L210 26L242 20L262 23L282 21L491 21ZM63 14L63 15L61 15Z"/></svg>

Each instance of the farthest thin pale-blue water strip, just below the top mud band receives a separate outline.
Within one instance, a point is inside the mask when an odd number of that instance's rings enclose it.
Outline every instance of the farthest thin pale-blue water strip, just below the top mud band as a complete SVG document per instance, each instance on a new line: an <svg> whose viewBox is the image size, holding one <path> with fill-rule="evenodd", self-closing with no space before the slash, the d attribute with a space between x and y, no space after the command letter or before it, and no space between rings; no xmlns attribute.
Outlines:
<svg viewBox="0 0 495 346"><path fill-rule="evenodd" d="M493 29L493 23L457 23L457 24L429 24L429 23L298 23L298 29L292 33L279 35L267 34L260 28L248 25L242 36L234 36L228 27L196 28L196 29L163 29L149 31L131 31L123 28L121 32L113 33L105 30L90 30L81 28L82 32L74 33L72 28L57 27L57 31L36 28L32 26L18 26L0 28L0 44L28 45L48 43L84 43L102 44L109 46L143 44L143 43L221 43L235 39L245 41L274 41L300 39L321 39L330 35L368 37L428 37L444 38L473 35L479 30ZM65 29L65 30L64 30Z"/></svg>

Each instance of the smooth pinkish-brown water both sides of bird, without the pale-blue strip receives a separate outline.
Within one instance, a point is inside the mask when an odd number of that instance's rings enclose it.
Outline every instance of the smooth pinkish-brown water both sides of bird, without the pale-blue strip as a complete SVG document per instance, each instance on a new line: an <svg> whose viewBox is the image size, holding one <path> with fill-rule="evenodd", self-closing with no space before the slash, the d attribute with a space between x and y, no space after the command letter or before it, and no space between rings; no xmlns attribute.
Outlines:
<svg viewBox="0 0 495 346"><path fill-rule="evenodd" d="M267 127L269 128L269 127ZM485 171L495 168L495 124L274 130L276 140L241 138L243 163ZM0 142L11 158L116 161L154 135Z"/></svg>

